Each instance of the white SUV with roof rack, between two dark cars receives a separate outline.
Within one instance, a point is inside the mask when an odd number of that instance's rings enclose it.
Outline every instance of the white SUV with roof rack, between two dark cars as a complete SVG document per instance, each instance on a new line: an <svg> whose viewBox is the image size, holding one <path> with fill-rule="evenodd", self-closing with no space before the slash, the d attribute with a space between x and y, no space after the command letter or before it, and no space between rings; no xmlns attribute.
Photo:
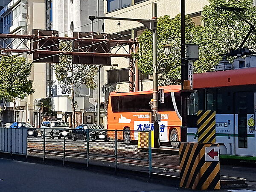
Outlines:
<svg viewBox="0 0 256 192"><path fill-rule="evenodd" d="M61 139L64 137L64 133L67 139L71 139L72 130L68 127L67 123L64 121L44 121L42 122L41 128L45 128L45 136L50 137L52 140L55 137ZM65 132L64 132L65 131ZM41 129L41 138L44 138L44 130Z"/></svg>

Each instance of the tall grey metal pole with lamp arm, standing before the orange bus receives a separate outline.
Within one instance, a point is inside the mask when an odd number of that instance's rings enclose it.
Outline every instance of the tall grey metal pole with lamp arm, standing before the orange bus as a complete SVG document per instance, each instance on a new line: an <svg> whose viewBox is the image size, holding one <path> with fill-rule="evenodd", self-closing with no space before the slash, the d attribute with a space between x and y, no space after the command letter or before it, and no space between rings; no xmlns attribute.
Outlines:
<svg viewBox="0 0 256 192"><path fill-rule="evenodd" d="M157 20L157 4L152 4L152 20ZM153 123L154 123L154 148L159 148L158 114L158 78L157 78L157 23L154 23L153 33Z"/></svg>

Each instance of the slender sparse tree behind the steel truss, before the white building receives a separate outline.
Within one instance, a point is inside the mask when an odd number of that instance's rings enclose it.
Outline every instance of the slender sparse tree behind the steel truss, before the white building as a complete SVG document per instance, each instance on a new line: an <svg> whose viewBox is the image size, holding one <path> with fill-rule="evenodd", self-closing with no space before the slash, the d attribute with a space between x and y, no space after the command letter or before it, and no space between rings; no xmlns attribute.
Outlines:
<svg viewBox="0 0 256 192"><path fill-rule="evenodd" d="M65 35L67 37L67 35ZM71 51L72 46L68 43L62 43L60 46L62 51ZM72 106L72 124L75 124L75 111L77 103L75 102L75 88L85 84L88 88L96 88L97 68L89 64L73 64L72 56L60 55L60 63L54 65L56 79L61 86L71 88L69 99Z"/></svg>

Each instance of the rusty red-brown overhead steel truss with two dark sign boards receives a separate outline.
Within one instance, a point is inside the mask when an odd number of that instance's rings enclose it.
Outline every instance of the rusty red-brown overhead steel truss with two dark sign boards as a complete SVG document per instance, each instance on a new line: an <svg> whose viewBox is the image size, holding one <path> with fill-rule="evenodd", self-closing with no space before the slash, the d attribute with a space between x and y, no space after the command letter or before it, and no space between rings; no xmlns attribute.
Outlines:
<svg viewBox="0 0 256 192"><path fill-rule="evenodd" d="M108 39L108 34L73 32L73 37L58 37L58 31L33 29L33 35L0 34L0 54L33 54L33 62L58 63L59 55L72 55L78 64L111 65L111 57L133 59L137 41ZM18 43L15 44L15 40ZM60 44L67 43L60 49ZM71 45L72 49L67 47ZM129 52L127 47L129 46ZM114 49L118 47L117 49ZM132 50L132 51L131 51ZM120 53L122 52L122 53ZM103 59L109 58L109 59Z"/></svg>

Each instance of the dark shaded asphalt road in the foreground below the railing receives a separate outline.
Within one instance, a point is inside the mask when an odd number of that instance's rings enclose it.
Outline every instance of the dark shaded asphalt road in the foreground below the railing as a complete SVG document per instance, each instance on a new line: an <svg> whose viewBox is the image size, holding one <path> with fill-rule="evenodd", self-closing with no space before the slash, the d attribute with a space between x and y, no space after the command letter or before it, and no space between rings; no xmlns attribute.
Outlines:
<svg viewBox="0 0 256 192"><path fill-rule="evenodd" d="M0 159L1 192L189 192L134 178ZM250 188L252 190L253 188ZM223 189L220 192L236 189ZM241 192L241 191L240 191ZM244 191L245 192L245 191Z"/></svg>

